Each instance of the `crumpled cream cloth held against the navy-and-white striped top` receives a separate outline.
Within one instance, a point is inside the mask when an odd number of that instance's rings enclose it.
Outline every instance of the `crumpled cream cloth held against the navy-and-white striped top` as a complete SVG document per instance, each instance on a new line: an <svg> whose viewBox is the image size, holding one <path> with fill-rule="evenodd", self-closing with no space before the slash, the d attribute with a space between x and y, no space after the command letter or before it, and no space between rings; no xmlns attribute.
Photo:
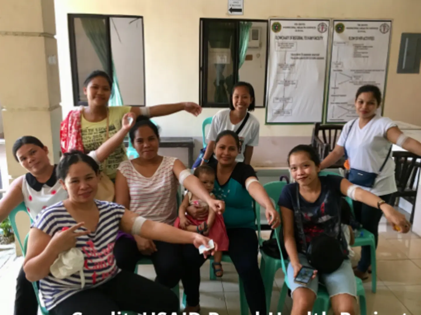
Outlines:
<svg viewBox="0 0 421 315"><path fill-rule="evenodd" d="M85 275L83 274L83 264L85 258L80 249L75 247L69 249L67 252L62 252L59 257L53 262L50 267L51 274L58 278L64 279L72 274L80 272L80 282L82 289L85 286Z"/></svg>

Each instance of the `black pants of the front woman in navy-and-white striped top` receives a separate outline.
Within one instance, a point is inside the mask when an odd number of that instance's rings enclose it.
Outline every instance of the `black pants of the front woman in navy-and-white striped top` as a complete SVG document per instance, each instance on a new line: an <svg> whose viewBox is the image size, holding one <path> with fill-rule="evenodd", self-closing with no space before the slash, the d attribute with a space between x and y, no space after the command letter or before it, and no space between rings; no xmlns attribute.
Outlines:
<svg viewBox="0 0 421 315"><path fill-rule="evenodd" d="M79 291L60 302L51 315L95 314L110 315L114 311L137 313L178 312L176 294L159 283L121 270L111 280L92 289Z"/></svg>

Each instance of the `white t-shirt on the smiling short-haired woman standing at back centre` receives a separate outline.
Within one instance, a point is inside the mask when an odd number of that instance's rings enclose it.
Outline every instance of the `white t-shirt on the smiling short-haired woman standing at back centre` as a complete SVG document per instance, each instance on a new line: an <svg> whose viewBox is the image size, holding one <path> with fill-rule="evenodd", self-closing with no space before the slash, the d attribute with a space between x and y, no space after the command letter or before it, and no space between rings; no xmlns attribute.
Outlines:
<svg viewBox="0 0 421 315"><path fill-rule="evenodd" d="M208 137L207 137L208 142L215 141L216 136L218 136L218 134L221 131L224 131L224 130L237 131L238 128L240 128L245 118L242 119L242 121L240 121L236 125L234 125L233 123L231 123L231 120L229 119L230 112L231 110L229 108L223 109L223 110L218 111L218 113L216 113L213 116L212 124L210 125L210 130L208 132ZM248 118L248 121L245 123L240 134L238 135L240 137L240 152L238 153L237 158L236 158L237 162L244 161L244 150L245 150L246 145L249 145L251 147L258 146L259 129L260 129L259 121L257 120L256 117L254 117L250 113L250 117Z"/></svg>

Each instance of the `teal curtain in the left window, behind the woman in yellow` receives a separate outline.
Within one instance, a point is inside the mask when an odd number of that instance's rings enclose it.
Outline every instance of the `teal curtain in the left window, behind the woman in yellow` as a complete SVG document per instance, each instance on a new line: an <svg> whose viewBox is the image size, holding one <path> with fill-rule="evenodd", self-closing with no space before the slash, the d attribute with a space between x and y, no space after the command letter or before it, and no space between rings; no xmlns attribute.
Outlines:
<svg viewBox="0 0 421 315"><path fill-rule="evenodd" d="M102 68L107 69L107 30L103 19L100 18L81 18L83 30L91 42L96 55L101 61ZM112 60L112 89L108 101L109 106L122 106L123 97L121 96L118 85L117 72L115 71L114 60Z"/></svg>

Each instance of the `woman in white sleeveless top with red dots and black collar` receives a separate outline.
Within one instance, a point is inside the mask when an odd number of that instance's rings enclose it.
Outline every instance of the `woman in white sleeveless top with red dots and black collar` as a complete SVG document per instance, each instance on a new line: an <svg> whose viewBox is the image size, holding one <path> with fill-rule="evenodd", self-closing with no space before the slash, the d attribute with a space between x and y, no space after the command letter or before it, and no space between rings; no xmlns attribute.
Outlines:
<svg viewBox="0 0 421 315"><path fill-rule="evenodd" d="M111 139L90 155L101 163L110 152L117 148L127 135L133 123L125 114L122 128ZM132 117L133 118L133 117ZM16 178L5 196L0 199L0 222L21 202L25 203L32 220L48 206L67 198L67 192L57 180L56 167L48 158L48 148L34 136L23 136L16 140L12 148L13 156L28 173ZM36 315L38 302L32 284L25 278L23 268L16 283L15 315Z"/></svg>

